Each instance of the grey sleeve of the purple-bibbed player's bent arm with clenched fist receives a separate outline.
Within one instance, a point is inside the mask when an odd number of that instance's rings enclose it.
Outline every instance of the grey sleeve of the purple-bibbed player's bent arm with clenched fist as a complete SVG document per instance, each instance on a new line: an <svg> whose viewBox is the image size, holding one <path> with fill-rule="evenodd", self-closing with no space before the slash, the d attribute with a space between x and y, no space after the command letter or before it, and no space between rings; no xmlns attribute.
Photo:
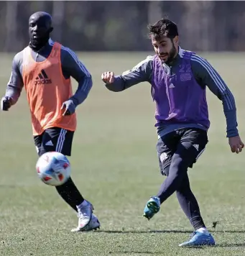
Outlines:
<svg viewBox="0 0 245 256"><path fill-rule="evenodd" d="M110 91L118 92L124 91L137 83L146 81L150 82L152 77L152 65L153 56L148 56L131 70L125 71L121 76L115 76L112 83L108 83L106 81L106 88L108 88Z"/></svg>

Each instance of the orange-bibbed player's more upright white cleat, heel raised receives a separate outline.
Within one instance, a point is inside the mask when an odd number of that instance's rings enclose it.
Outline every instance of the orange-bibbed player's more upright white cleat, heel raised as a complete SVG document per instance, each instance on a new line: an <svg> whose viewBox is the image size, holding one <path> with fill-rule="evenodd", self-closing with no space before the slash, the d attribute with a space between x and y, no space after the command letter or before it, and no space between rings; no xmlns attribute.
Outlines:
<svg viewBox="0 0 245 256"><path fill-rule="evenodd" d="M78 227L75 229L84 229L91 221L93 214L93 205L88 201L83 201L78 208ZM73 231L73 230L72 230Z"/></svg>

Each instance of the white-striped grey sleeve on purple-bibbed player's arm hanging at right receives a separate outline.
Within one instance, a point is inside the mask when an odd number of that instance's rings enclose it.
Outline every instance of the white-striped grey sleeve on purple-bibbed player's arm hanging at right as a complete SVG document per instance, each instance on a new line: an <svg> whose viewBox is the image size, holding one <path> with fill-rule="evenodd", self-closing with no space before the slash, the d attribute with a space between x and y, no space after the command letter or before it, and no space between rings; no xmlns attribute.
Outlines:
<svg viewBox="0 0 245 256"><path fill-rule="evenodd" d="M223 112L226 116L226 133L227 137L235 137L239 135L236 122L236 103L233 94L229 90L226 83L217 71L208 63L207 60L198 55L191 58L193 73L200 83L200 86L208 86L208 88L223 103Z"/></svg>

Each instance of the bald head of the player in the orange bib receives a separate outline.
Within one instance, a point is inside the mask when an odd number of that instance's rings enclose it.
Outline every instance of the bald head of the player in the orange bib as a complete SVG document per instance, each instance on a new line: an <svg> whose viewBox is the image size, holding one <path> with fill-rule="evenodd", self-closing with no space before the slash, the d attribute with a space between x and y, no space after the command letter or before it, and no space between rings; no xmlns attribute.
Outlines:
<svg viewBox="0 0 245 256"><path fill-rule="evenodd" d="M52 17L47 12L35 12L29 17L30 46L34 50L43 47L52 32Z"/></svg>

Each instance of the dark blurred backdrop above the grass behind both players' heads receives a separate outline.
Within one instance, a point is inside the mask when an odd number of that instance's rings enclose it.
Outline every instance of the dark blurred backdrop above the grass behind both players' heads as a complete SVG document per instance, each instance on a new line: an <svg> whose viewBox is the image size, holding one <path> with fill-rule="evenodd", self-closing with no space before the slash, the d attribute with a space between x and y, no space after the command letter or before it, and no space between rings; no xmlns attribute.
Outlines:
<svg viewBox="0 0 245 256"><path fill-rule="evenodd" d="M245 50L245 1L0 1L0 51L27 45L28 18L41 10L53 16L52 37L74 50L151 50L147 24L166 14L184 48Z"/></svg>

